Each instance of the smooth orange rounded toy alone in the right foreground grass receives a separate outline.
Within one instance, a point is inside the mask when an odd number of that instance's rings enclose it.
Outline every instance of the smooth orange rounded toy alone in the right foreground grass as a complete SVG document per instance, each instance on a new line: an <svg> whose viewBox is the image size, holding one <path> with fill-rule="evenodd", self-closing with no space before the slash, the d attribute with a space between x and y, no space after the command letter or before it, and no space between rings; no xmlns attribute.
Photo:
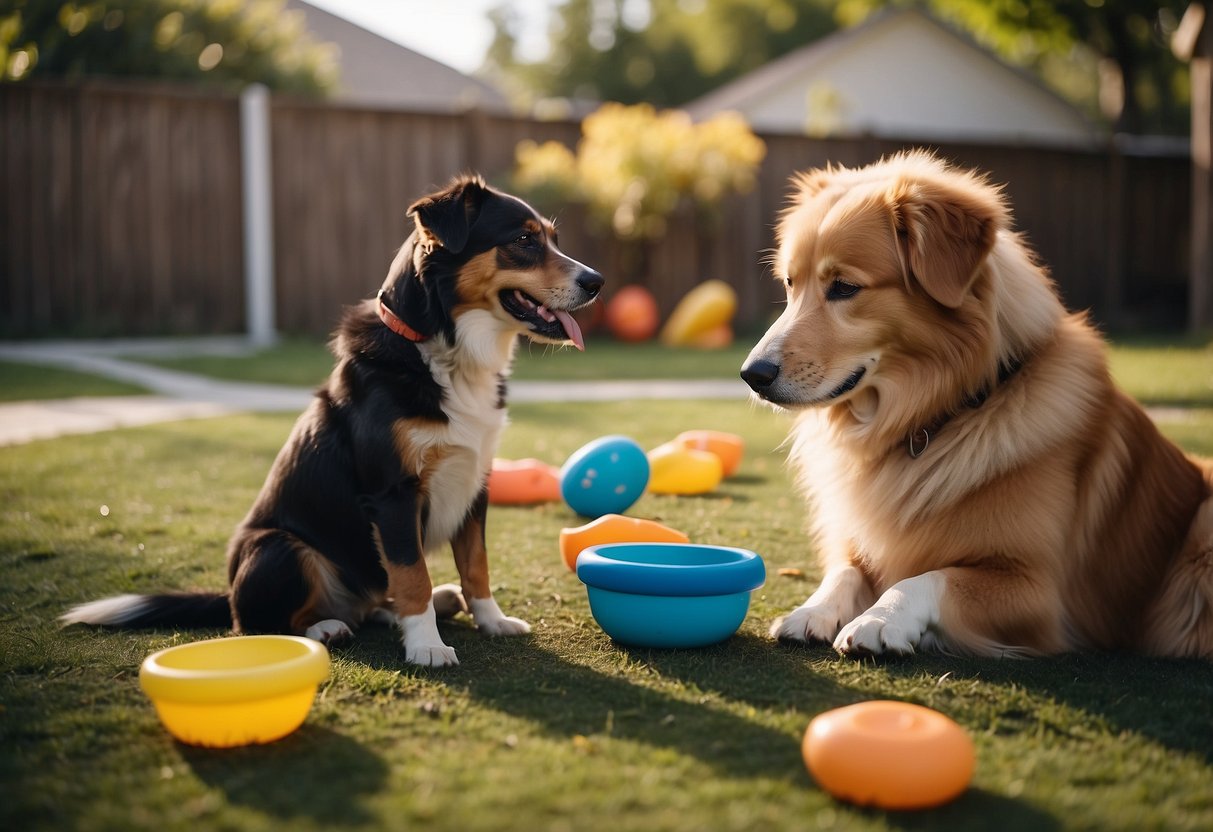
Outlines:
<svg viewBox="0 0 1213 832"><path fill-rule="evenodd" d="M963 728L909 702L860 702L818 714L801 750L821 788L882 809L947 803L968 788L976 767Z"/></svg>

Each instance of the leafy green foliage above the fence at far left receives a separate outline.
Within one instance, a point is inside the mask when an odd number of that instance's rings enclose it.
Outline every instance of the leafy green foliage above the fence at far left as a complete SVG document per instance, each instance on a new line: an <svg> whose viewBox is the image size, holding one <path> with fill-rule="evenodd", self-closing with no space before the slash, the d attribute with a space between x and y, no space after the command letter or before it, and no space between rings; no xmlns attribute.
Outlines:
<svg viewBox="0 0 1213 832"><path fill-rule="evenodd" d="M158 78L321 95L335 47L284 0L0 0L0 81Z"/></svg>

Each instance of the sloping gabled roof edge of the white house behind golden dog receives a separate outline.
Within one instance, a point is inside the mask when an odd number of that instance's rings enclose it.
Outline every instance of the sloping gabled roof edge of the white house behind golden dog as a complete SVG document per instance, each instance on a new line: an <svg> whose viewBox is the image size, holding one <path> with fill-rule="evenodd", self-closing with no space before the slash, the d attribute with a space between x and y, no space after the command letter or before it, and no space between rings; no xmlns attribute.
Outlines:
<svg viewBox="0 0 1213 832"><path fill-rule="evenodd" d="M721 110L739 110L745 113L751 109L754 102L762 99L771 91L795 84L797 79L811 78L830 68L842 56L853 47L873 36L878 30L893 23L923 22L943 35L959 50L968 53L969 58L976 58L983 63L995 67L998 73L1004 73L1008 79L1014 79L1016 84L1030 86L1042 99L1048 101L1049 107L1059 113L1065 113L1069 120L1080 125L1080 132L1095 133L1095 127L1089 120L1070 102L1046 86L1031 73L1014 67L975 40L953 27L944 23L933 15L919 8L884 8L869 16L862 23L842 29L831 35L821 38L811 44L776 58L758 69L742 75L730 84L708 92L684 106L694 118L707 118Z"/></svg>

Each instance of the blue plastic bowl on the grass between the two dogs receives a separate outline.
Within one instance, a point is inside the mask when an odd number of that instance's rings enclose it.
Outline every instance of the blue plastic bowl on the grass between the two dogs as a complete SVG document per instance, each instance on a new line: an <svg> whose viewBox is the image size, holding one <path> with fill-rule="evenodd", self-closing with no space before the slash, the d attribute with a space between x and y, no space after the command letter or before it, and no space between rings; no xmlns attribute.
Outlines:
<svg viewBox="0 0 1213 832"><path fill-rule="evenodd" d="M738 632L767 580L747 549L697 543L609 543L577 555L590 611L616 642L701 648Z"/></svg>

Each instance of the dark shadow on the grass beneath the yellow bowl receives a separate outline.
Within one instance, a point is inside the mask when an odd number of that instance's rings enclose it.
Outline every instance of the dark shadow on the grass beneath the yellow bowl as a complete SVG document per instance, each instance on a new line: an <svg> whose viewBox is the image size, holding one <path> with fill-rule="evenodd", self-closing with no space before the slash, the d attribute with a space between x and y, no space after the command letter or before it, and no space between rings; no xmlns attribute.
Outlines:
<svg viewBox="0 0 1213 832"><path fill-rule="evenodd" d="M387 763L374 752L311 724L269 745L217 750L183 745L181 753L194 774L230 804L287 824L312 819L338 827L374 821L361 798L381 792L388 777Z"/></svg>

